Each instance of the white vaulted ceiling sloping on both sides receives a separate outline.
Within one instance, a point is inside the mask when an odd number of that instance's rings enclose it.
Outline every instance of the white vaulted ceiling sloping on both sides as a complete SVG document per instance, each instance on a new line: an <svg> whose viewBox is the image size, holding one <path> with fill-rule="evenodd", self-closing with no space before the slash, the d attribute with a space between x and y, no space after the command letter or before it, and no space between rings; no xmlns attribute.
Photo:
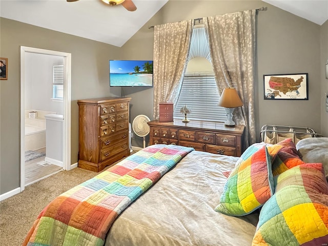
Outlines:
<svg viewBox="0 0 328 246"><path fill-rule="evenodd" d="M0 1L0 16L19 22L124 45L169 0L133 0L136 11L109 6L100 0ZM174 1L174 0L170 0ZM322 25L328 19L328 0L264 0L271 5Z"/></svg>

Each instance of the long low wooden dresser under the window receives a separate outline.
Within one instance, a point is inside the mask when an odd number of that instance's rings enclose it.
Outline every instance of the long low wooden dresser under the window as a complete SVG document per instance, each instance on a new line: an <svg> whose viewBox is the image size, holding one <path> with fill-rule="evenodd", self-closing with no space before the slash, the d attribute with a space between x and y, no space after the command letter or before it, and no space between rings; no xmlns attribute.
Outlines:
<svg viewBox="0 0 328 246"><path fill-rule="evenodd" d="M223 123L191 120L183 123L149 121L150 145L173 144L215 154L240 156L244 126L226 127Z"/></svg>

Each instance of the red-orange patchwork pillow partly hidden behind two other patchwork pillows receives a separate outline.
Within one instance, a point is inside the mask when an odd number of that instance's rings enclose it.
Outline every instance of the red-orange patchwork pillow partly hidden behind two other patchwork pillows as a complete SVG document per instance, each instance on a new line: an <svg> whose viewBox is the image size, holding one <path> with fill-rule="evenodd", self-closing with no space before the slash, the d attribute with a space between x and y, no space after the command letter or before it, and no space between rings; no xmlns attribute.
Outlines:
<svg viewBox="0 0 328 246"><path fill-rule="evenodd" d="M278 142L277 145L282 146L282 148L272 162L273 176L279 175L286 170L305 163L299 157L292 138L284 139L281 142Z"/></svg>

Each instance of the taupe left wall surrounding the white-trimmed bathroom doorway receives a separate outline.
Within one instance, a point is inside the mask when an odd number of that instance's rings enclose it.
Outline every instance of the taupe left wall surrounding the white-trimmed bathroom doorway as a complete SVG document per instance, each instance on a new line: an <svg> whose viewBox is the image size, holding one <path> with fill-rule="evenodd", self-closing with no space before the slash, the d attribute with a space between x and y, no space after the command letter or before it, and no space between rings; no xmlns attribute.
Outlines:
<svg viewBox="0 0 328 246"><path fill-rule="evenodd" d="M19 187L20 181L20 46L72 54L71 163L77 162L77 99L120 96L109 87L109 58L118 58L119 48L90 39L0 19L1 57L8 58L8 80L1 80L0 194ZM24 158L24 157L23 157Z"/></svg>

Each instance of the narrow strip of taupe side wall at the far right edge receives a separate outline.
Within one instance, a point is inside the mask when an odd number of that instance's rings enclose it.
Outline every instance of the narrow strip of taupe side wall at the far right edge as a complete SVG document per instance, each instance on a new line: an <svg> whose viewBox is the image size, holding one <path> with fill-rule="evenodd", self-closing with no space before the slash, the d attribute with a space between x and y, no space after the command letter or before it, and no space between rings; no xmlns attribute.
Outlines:
<svg viewBox="0 0 328 246"><path fill-rule="evenodd" d="M328 136L328 112L326 112L325 106L325 94L328 94L328 79L325 78L325 64L328 60L328 20L320 27L320 81L321 91L320 105L321 105L321 134Z"/></svg>

